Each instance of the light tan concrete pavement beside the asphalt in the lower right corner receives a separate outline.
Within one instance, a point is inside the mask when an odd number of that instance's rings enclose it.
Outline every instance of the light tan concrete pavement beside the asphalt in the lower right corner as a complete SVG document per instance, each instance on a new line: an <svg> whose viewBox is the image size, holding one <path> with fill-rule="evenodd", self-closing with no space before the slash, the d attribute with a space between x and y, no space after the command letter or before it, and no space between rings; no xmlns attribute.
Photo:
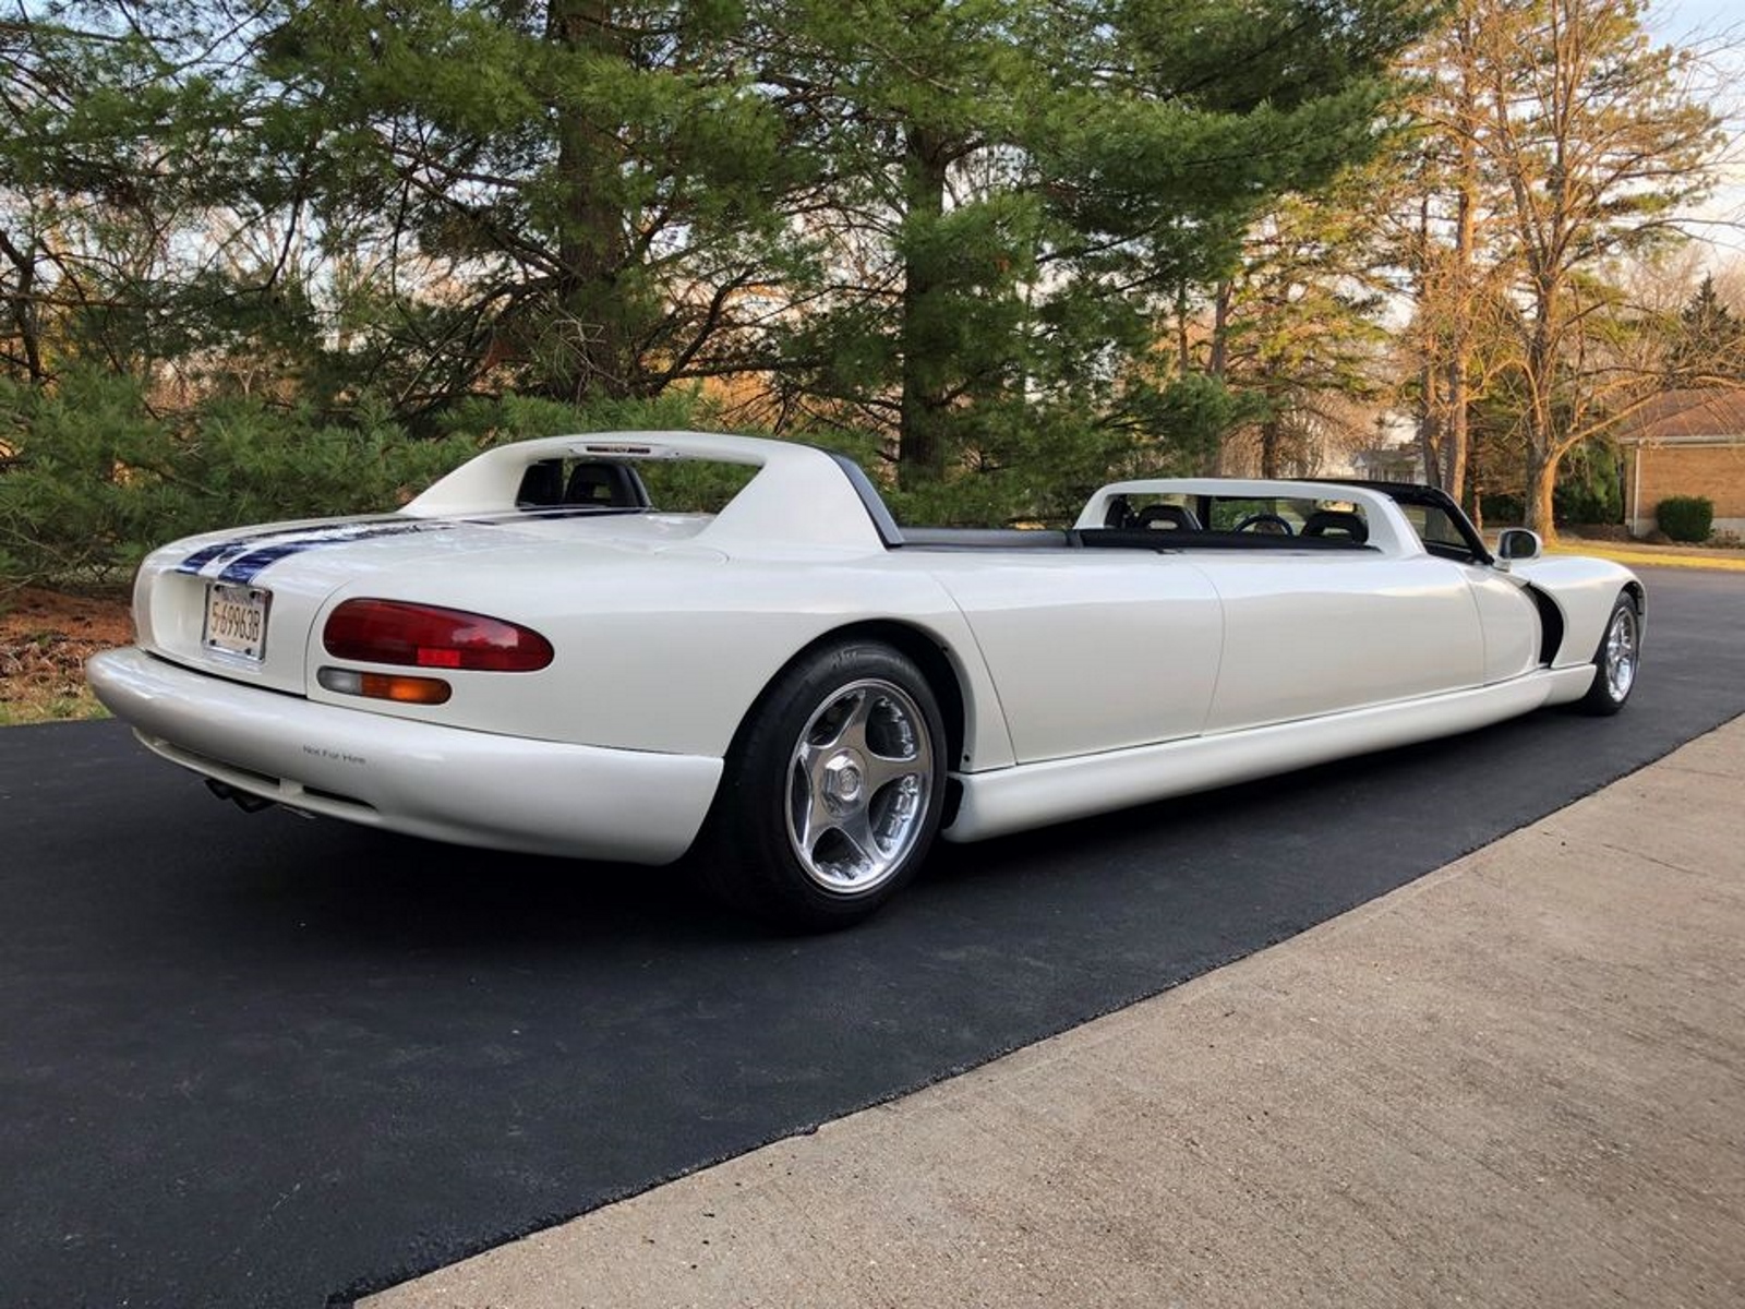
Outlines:
<svg viewBox="0 0 1745 1309"><path fill-rule="evenodd" d="M1745 719L1162 997L359 1304L1286 1302L1745 1302Z"/></svg>

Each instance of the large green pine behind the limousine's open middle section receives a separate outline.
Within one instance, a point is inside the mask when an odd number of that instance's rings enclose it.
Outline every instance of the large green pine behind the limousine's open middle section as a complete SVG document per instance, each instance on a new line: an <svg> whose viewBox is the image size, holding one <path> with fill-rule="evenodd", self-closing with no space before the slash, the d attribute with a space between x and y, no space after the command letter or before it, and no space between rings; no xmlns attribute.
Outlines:
<svg viewBox="0 0 1745 1309"><path fill-rule="evenodd" d="M1052 440L1050 412L1167 436L1159 326L1272 199L1375 150L1387 59L1426 21L1410 0L792 12L777 80L832 161L792 358L815 398L888 419L904 483L1010 457L1014 424Z"/></svg>

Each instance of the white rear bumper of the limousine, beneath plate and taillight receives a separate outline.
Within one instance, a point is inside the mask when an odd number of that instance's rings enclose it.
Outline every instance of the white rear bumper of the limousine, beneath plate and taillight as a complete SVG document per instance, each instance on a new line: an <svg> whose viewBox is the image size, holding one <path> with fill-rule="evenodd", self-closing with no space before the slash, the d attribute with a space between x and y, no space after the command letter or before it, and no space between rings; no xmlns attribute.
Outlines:
<svg viewBox="0 0 1745 1309"><path fill-rule="evenodd" d="M141 649L91 688L183 768L295 810L492 850L667 864L696 838L721 759L496 737L311 703Z"/></svg>

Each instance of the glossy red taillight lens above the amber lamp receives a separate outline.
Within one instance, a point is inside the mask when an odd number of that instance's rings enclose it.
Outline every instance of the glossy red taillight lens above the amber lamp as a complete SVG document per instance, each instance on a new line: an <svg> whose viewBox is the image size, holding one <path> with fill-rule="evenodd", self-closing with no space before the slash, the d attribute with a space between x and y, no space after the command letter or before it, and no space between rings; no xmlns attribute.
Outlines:
<svg viewBox="0 0 1745 1309"><path fill-rule="evenodd" d="M414 668L534 672L551 663L551 642L530 628L400 600L346 600L328 614L321 644L339 660Z"/></svg>

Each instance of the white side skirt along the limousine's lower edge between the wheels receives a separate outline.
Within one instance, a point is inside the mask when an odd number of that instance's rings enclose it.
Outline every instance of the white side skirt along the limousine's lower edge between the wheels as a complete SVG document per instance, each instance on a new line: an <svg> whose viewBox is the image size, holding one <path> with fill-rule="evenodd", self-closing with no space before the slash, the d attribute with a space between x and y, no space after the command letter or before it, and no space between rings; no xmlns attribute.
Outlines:
<svg viewBox="0 0 1745 1309"><path fill-rule="evenodd" d="M1162 745L961 773L963 801L941 836L981 841L1050 822L1211 791L1270 773L1485 728L1586 695L1593 667L1536 668L1495 686L1344 714L1190 737Z"/></svg>

